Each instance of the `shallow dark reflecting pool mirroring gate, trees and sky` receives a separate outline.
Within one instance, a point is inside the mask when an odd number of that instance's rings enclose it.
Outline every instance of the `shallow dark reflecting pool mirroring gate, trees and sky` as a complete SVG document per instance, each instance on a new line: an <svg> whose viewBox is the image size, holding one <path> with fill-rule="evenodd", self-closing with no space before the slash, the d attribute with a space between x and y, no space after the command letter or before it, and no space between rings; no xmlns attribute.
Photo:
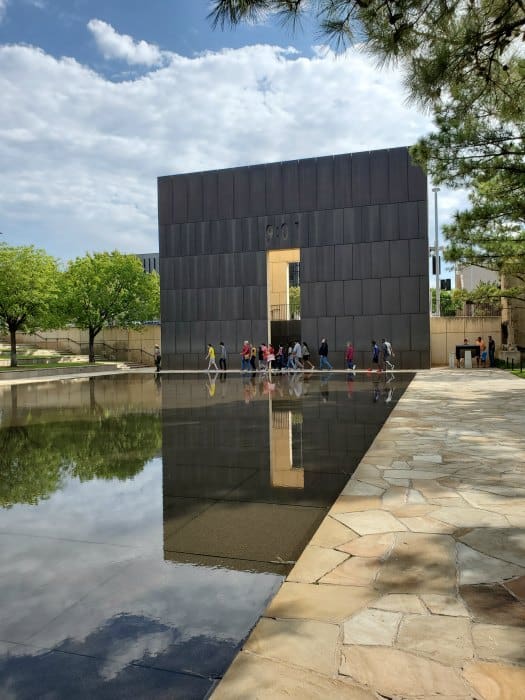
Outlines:
<svg viewBox="0 0 525 700"><path fill-rule="evenodd" d="M410 378L0 387L0 697L207 697Z"/></svg>

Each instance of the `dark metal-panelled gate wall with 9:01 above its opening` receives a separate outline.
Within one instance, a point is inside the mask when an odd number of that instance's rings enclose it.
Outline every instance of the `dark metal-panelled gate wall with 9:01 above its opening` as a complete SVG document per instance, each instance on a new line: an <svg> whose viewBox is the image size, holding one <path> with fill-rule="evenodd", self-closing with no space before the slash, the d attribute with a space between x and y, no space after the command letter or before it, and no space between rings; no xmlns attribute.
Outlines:
<svg viewBox="0 0 525 700"><path fill-rule="evenodd" d="M158 180L163 365L203 366L267 340L266 253L301 251L302 338L361 366L388 337L398 364L430 366L427 183L406 148Z"/></svg>

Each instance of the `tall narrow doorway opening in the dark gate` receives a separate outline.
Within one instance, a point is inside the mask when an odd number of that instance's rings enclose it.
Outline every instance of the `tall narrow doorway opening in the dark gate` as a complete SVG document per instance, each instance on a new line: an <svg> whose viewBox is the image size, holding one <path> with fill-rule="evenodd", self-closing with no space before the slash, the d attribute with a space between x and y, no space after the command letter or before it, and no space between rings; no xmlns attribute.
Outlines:
<svg viewBox="0 0 525 700"><path fill-rule="evenodd" d="M301 339L300 264L299 248L268 251L268 338L276 350Z"/></svg>

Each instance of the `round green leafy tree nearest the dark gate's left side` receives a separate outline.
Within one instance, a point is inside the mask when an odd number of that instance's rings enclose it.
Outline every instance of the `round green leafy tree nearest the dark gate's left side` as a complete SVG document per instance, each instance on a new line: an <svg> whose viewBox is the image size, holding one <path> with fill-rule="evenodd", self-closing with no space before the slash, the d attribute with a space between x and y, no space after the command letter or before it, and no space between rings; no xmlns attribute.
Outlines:
<svg viewBox="0 0 525 700"><path fill-rule="evenodd" d="M89 361L95 362L95 337L103 328L129 328L159 317L159 277L145 273L135 255L87 254L64 273L63 307L72 322L88 331Z"/></svg>

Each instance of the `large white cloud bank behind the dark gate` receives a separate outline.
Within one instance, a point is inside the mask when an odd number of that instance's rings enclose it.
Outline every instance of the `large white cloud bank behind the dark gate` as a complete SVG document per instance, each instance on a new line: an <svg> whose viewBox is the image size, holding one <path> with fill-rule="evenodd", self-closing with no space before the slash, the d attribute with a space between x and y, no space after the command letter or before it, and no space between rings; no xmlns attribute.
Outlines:
<svg viewBox="0 0 525 700"><path fill-rule="evenodd" d="M428 116L359 51L248 46L115 83L73 59L0 47L0 230L70 258L158 246L156 178L413 143ZM444 197L440 201L444 201Z"/></svg>

